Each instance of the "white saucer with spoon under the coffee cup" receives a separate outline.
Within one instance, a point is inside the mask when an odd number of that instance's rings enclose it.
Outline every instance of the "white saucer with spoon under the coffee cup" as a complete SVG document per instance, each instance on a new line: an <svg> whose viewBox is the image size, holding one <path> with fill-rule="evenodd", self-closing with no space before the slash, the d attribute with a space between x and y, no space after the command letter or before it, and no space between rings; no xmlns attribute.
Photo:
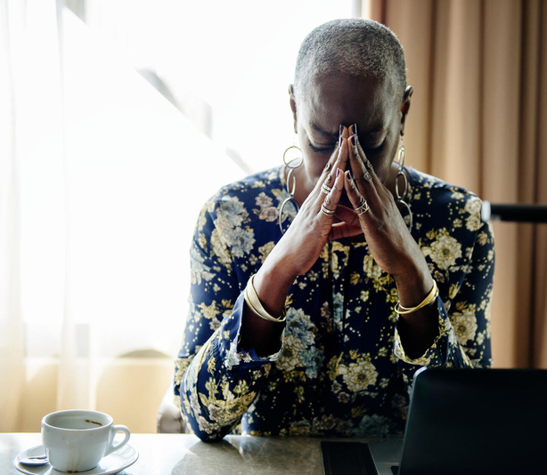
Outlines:
<svg viewBox="0 0 547 475"><path fill-rule="evenodd" d="M65 471L56 471L49 463L44 465L23 465L19 463L20 460L27 457L36 457L39 455L45 455L44 446L31 447L20 455L17 455L13 459L13 466L23 473L28 475L66 475ZM129 444L126 447L122 447L113 454L104 457L93 470L82 471L86 475L113 475L124 469L127 469L129 465L133 465L139 458L139 453L135 447L131 447Z"/></svg>

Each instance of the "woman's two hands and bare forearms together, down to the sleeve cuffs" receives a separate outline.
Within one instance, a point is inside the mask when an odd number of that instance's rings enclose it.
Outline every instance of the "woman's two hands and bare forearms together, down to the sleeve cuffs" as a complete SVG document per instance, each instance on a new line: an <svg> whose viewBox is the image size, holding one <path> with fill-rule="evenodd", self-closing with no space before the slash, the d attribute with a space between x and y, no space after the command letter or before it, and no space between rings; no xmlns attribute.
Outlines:
<svg viewBox="0 0 547 475"><path fill-rule="evenodd" d="M355 125L343 128L339 144L314 189L257 272L257 296L272 315L282 314L290 286L297 276L312 268L328 240L360 234L374 261L395 279L400 305L419 305L434 286L420 246L407 229L393 194L374 172L355 132ZM345 172L348 162L349 170ZM344 189L353 209L339 204ZM437 335L433 302L410 315L401 315L399 333L412 358L429 348ZM270 354L275 347L271 332L281 334L279 327L274 330L272 326L279 324L262 318L246 321L246 328L251 329L243 335L242 348L254 345L263 352L260 354Z"/></svg>

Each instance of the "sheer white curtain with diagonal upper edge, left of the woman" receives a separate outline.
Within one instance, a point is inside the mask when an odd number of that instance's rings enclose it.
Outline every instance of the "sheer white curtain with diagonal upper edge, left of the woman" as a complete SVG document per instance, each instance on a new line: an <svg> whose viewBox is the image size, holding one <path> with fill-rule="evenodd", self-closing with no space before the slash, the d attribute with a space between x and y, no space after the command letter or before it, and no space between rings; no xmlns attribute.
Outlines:
<svg viewBox="0 0 547 475"><path fill-rule="evenodd" d="M175 353L198 210L243 175L61 9L1 8L2 431L98 407L120 354Z"/></svg>

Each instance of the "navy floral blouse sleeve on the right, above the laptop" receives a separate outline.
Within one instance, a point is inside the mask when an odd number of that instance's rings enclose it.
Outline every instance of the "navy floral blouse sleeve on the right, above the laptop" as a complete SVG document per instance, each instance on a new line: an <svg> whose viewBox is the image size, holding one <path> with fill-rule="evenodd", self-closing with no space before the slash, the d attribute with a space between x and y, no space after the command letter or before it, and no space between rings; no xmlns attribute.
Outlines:
<svg viewBox="0 0 547 475"><path fill-rule="evenodd" d="M491 222L480 221L480 204L477 197L472 197L463 208L461 219L454 220L459 229L451 229L451 232L439 229L429 234L427 244L420 242L439 286L439 325L435 342L415 359L406 355L396 331L394 353L400 360L404 381L409 385L419 366L492 365L490 312L494 234ZM466 238L458 240L453 235Z"/></svg>

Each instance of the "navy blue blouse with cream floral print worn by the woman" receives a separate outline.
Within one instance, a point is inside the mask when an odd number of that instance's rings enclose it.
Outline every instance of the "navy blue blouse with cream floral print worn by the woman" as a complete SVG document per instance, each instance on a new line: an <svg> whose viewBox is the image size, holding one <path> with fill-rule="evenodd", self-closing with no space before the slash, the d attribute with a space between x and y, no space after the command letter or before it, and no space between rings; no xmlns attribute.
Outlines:
<svg viewBox="0 0 547 475"><path fill-rule="evenodd" d="M438 335L417 359L397 334L394 279L366 243L329 242L287 298L281 350L260 358L238 340L243 290L282 238L282 168L220 189L191 248L192 289L175 395L204 440L260 436L389 437L404 431L420 366L490 366L494 238L481 201L406 168L412 236L439 288ZM285 206L283 225L296 208ZM282 325L282 324L280 324ZM241 425L240 425L241 423Z"/></svg>

